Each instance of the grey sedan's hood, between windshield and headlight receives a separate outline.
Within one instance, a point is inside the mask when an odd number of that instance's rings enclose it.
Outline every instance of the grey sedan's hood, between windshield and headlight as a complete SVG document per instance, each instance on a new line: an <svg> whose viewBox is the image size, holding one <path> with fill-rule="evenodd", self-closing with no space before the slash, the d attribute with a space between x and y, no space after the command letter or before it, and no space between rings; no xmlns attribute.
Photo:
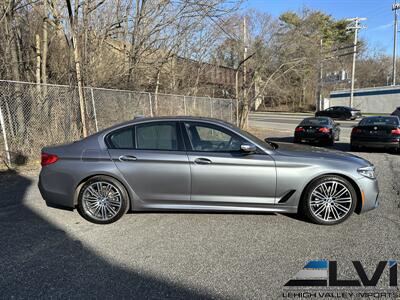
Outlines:
<svg viewBox="0 0 400 300"><path fill-rule="evenodd" d="M355 163L360 167L372 165L368 160L350 153L308 145L279 143L279 148L275 151L278 155L282 156L321 160L340 160Z"/></svg>

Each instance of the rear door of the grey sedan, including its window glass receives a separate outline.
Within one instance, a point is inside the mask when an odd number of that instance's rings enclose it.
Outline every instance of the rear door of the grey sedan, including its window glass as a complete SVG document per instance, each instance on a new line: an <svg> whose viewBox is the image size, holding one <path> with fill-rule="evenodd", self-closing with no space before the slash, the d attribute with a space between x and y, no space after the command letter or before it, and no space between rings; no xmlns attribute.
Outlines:
<svg viewBox="0 0 400 300"><path fill-rule="evenodd" d="M106 140L111 158L140 200L190 200L190 167L177 122L144 122Z"/></svg>

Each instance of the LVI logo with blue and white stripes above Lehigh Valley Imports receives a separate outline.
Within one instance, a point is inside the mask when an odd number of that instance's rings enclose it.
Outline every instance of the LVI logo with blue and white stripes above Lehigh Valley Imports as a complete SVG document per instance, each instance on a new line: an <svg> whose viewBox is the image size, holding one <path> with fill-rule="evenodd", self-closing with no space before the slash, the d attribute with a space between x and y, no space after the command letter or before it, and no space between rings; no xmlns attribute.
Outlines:
<svg viewBox="0 0 400 300"><path fill-rule="evenodd" d="M352 264L357 272L358 278L338 279L336 261L310 260L293 279L285 284L285 286L374 287L378 284L385 269L388 269L389 272L389 286L397 286L397 261L395 260L380 261L370 277L368 277L361 262L352 261ZM386 268L386 266L388 268Z"/></svg>

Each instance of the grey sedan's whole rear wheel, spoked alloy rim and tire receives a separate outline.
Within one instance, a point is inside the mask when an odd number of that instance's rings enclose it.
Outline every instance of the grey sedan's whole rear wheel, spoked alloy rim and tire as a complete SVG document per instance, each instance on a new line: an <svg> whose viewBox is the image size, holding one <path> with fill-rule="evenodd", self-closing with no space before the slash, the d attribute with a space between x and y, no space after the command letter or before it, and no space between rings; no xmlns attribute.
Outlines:
<svg viewBox="0 0 400 300"><path fill-rule="evenodd" d="M89 222L113 223L119 220L128 208L129 196L125 187L112 177L94 176L86 181L79 191L78 212Z"/></svg>

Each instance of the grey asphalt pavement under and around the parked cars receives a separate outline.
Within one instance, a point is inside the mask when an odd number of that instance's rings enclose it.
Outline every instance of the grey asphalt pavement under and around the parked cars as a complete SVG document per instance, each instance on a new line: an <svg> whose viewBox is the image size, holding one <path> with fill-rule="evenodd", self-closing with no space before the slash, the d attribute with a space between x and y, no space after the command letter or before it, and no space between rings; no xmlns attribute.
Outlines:
<svg viewBox="0 0 400 300"><path fill-rule="evenodd" d="M251 124L289 142L300 118L274 115L252 115ZM336 148L347 150L346 140ZM380 207L336 226L294 215L175 212L95 225L46 207L37 171L0 173L1 297L279 299L308 260L338 261L341 277L356 276L350 262L359 260L371 274L378 261L400 260L400 157L356 154L377 166ZM387 276L372 291L387 291Z"/></svg>

